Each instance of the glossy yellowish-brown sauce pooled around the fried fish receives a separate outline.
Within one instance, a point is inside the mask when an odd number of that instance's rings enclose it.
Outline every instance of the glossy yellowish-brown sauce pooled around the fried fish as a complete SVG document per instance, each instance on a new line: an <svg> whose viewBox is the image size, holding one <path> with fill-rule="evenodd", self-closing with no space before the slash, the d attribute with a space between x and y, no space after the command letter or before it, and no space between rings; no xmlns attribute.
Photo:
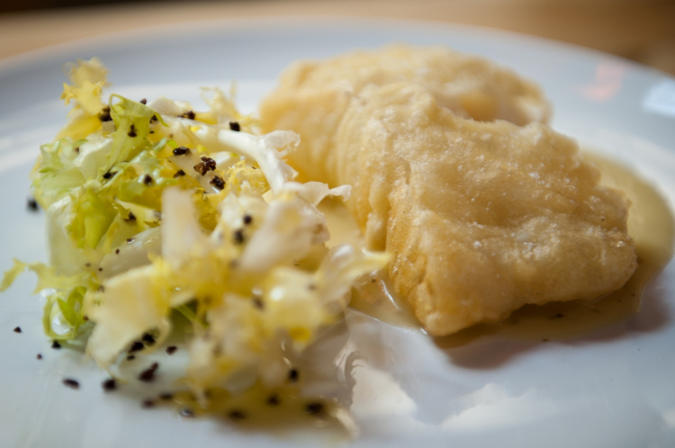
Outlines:
<svg viewBox="0 0 675 448"><path fill-rule="evenodd" d="M476 325L455 335L437 337L443 347L464 345L481 336L498 336L524 341L550 341L589 334L625 321L640 309L646 285L662 271L673 255L675 221L661 194L624 166L585 152L584 157L598 166L602 184L623 190L632 202L628 215L628 234L634 238L638 267L626 284L595 301L552 302L544 306L526 305L500 324ZM327 215L329 246L347 242L361 246L356 222L344 206L329 202L321 211ZM352 308L400 327L419 327L406 300L393 293L385 273L357 285Z"/></svg>

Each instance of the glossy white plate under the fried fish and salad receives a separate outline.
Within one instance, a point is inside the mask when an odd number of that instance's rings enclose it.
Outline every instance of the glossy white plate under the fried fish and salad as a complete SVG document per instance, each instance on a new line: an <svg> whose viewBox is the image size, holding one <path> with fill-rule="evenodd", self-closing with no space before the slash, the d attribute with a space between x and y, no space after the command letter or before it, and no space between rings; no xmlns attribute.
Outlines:
<svg viewBox="0 0 675 448"><path fill-rule="evenodd" d="M276 19L205 22L110 35L0 61L0 269L44 260L41 213L26 211L26 175L40 142L65 119L60 64L98 56L115 91L192 100L199 85L239 82L253 110L295 58L324 58L387 42L447 44L534 78L554 128L630 166L675 202L675 80L645 67L545 40L431 22ZM80 354L49 348L26 275L0 296L0 446L313 446L104 394ZM338 362L358 358L355 446L636 447L675 445L675 264L626 323L564 343L482 338L442 350L427 336L356 313ZM658 322L658 325L652 325ZM12 329L21 326L22 334ZM41 353L45 359L38 361ZM344 367L344 362L341 364ZM80 390L61 384L75 377Z"/></svg>

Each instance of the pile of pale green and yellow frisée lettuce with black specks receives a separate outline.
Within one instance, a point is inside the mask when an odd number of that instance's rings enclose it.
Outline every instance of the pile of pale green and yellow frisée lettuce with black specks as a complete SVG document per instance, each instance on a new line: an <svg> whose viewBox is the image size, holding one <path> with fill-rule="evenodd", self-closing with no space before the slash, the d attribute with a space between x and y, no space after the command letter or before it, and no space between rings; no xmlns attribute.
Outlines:
<svg viewBox="0 0 675 448"><path fill-rule="evenodd" d="M298 135L259 135L219 89L204 90L206 112L164 97L105 104L99 60L66 70L61 98L74 107L31 172L49 264L14 260L0 291L36 273L46 335L85 344L105 369L143 335L161 345L180 313L193 327L185 383L197 399L282 384L287 354L340 318L356 278L387 263L326 246L316 206L350 187L293 182L284 155Z"/></svg>

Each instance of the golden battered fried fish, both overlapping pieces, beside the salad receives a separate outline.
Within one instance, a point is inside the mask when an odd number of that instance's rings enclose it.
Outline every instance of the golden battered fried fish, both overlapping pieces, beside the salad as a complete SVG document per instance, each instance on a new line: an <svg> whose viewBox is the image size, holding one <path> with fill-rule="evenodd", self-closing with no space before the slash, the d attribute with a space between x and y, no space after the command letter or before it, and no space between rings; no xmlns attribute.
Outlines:
<svg viewBox="0 0 675 448"><path fill-rule="evenodd" d="M478 121L449 102L465 67L473 97L497 104L487 118L532 122ZM353 185L347 206L367 245L392 253L394 288L433 335L597 298L635 271L624 195L536 122L548 114L536 87L488 62L397 47L299 64L261 114L266 130L301 134L304 177Z"/></svg>

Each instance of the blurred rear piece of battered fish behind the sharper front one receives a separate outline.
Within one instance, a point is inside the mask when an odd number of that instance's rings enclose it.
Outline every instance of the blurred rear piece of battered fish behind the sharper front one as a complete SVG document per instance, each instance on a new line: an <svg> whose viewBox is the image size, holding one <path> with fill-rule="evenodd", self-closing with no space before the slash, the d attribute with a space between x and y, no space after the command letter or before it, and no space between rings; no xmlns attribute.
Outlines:
<svg viewBox="0 0 675 448"><path fill-rule="evenodd" d="M297 62L285 70L261 113L267 130L292 129L304 137L300 150L288 157L299 180L338 184L332 144L343 114L366 85L401 81L423 86L438 106L464 118L523 125L546 122L551 112L536 85L485 59L445 47L397 45Z"/></svg>

